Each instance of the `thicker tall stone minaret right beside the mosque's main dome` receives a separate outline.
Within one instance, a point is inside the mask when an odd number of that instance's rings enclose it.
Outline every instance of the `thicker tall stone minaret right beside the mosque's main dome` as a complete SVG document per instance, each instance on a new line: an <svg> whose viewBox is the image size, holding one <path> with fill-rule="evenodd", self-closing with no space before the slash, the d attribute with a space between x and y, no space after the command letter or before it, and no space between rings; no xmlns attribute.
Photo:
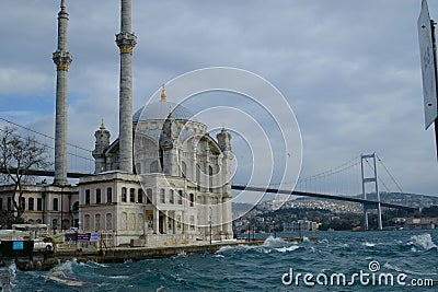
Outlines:
<svg viewBox="0 0 438 292"><path fill-rule="evenodd" d="M119 168L132 173L132 49L137 37L131 33L131 0L122 0L120 33L116 44L120 49L119 89Z"/></svg>

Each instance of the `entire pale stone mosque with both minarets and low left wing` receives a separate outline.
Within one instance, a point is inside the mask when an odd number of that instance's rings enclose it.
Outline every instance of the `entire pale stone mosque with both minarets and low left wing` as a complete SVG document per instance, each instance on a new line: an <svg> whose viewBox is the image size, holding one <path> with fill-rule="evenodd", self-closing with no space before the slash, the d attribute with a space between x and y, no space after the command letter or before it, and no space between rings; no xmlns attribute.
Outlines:
<svg viewBox="0 0 438 292"><path fill-rule="evenodd" d="M111 141L103 121L95 131L94 174L71 186L67 180L67 82L72 56L68 51L66 0L58 13L55 179L24 186L20 205L27 222L50 229L71 226L107 232L113 245L159 246L232 238L231 135L216 136L186 107L161 100L132 114L131 0L122 0L119 135ZM0 208L12 186L0 187Z"/></svg>

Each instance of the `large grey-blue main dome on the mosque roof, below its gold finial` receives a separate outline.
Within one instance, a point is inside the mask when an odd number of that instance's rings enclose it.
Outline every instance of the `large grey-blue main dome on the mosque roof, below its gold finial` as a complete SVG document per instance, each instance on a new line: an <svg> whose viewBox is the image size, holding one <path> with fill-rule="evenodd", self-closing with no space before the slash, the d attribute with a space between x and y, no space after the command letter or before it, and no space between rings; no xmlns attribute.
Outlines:
<svg viewBox="0 0 438 292"><path fill-rule="evenodd" d="M161 101L148 104L146 107L142 106L138 109L132 116L132 122L138 122L140 120L166 119L170 112L172 112L172 117L174 119L197 121L194 115L186 107L176 103Z"/></svg>

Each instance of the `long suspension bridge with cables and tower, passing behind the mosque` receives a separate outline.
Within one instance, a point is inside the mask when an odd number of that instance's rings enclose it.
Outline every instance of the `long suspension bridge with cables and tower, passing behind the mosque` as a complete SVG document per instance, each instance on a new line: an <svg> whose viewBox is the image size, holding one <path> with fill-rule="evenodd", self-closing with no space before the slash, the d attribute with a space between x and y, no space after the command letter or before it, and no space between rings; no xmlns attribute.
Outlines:
<svg viewBox="0 0 438 292"><path fill-rule="evenodd" d="M45 147L48 150L49 159L53 159L55 144L55 139L53 137L1 117L0 121L2 121L3 127L13 127L16 130L14 135L21 138L30 136L34 137L42 147ZM0 131L3 131L3 128L0 128ZM93 174L94 160L91 154L91 150L69 143L67 176L69 178L80 178ZM378 168L381 170L379 176ZM5 170L0 168L0 172L4 173L4 171ZM54 171L31 170L28 171L28 175L53 177ZM400 200L400 196L395 201L385 198L385 196L381 198L382 191L379 190L379 187L384 189L384 194L402 195L403 190L394 176L390 173L387 165L376 153L358 155L327 171L300 178L295 188L290 185L290 189L280 189L278 188L280 184L249 186L245 184L234 183L231 188L242 191L276 194L277 196L286 195L286 198L288 199L289 196L300 196L360 203L364 207L365 230L368 230L369 210L377 210L378 229L380 230L382 229L381 208L394 208L411 211L417 210L417 208L408 206L407 201ZM281 184L281 186L285 186L285 184Z"/></svg>

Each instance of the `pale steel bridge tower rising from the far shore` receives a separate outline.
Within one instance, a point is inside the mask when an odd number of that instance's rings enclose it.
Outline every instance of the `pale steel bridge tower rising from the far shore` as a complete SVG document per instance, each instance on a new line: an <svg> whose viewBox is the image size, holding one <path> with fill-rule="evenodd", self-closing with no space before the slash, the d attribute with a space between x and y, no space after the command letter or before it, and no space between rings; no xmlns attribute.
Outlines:
<svg viewBox="0 0 438 292"><path fill-rule="evenodd" d="M368 159L372 159L372 164L369 164L372 168L371 171L371 176L366 176L365 171L364 171L364 161L368 163ZM360 170L361 170L361 176L362 176L362 196L364 200L367 200L367 189L366 186L368 184L374 184L374 191L377 195L377 221L378 221L378 229L382 230L382 209L380 206L380 194L379 194L379 186L377 182L377 165L376 165L376 153L372 154L362 154L360 155ZM368 230L368 211L369 205L364 203L364 230Z"/></svg>

